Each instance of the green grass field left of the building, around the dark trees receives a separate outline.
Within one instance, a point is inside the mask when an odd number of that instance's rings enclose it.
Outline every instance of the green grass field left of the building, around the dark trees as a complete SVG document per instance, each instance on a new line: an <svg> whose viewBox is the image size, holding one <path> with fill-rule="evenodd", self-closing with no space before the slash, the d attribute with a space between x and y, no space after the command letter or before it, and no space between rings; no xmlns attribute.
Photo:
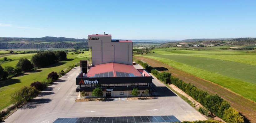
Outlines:
<svg viewBox="0 0 256 123"><path fill-rule="evenodd" d="M33 54L17 54L17 55L28 55L26 56L28 59L31 59ZM16 55L11 55L12 57L18 57ZM9 57L11 57L9 56ZM61 70L65 70L68 66L72 64L79 63L80 60L89 59L89 52L86 51L83 54L74 54L72 55L71 52L67 54L68 60L53 64L51 66L47 66L45 68L37 69L35 71L27 72L23 75L14 77L9 80L1 81L0 83L0 110L4 109L11 105L9 102L10 94L14 91L22 88L23 86L29 86L32 82L35 81L42 81L47 78L47 75L52 72L59 72ZM8 63L6 63L8 64ZM1 66L6 66L2 64ZM8 66L8 65L7 65Z"/></svg>

